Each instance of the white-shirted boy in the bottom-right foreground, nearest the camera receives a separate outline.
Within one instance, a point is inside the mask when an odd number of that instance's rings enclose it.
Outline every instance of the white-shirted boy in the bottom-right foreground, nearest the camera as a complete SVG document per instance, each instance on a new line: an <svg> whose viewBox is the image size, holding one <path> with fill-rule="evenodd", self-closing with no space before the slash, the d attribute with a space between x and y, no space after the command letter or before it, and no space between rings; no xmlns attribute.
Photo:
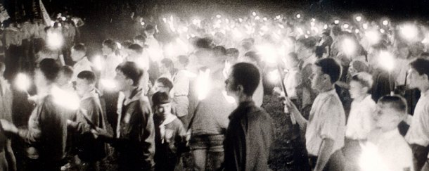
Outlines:
<svg viewBox="0 0 429 171"><path fill-rule="evenodd" d="M376 128L368 141L376 146L377 167L389 171L414 170L413 153L397 126L406 117L406 102L401 96L383 96L377 103ZM363 159L363 158L362 158ZM365 169L365 168L362 168Z"/></svg>

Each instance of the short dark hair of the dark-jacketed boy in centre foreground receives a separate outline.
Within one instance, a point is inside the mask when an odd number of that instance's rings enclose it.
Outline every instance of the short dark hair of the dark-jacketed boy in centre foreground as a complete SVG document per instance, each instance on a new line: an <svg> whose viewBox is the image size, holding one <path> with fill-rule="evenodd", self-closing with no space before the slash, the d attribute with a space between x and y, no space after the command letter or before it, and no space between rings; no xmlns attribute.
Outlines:
<svg viewBox="0 0 429 171"><path fill-rule="evenodd" d="M233 86L243 86L243 92L248 96L252 96L260 84L260 70L251 63L237 63L233 65L231 74L235 80Z"/></svg>

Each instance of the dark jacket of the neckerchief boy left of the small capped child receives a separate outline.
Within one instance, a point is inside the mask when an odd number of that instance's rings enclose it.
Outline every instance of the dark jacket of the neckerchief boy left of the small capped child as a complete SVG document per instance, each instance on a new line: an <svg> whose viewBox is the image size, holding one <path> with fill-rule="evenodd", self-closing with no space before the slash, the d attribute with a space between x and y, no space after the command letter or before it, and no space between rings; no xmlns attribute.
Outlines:
<svg viewBox="0 0 429 171"><path fill-rule="evenodd" d="M118 153L120 170L149 170L153 168L155 129L149 102L144 100L142 89L135 89L124 99L117 124L117 138L113 147Z"/></svg>

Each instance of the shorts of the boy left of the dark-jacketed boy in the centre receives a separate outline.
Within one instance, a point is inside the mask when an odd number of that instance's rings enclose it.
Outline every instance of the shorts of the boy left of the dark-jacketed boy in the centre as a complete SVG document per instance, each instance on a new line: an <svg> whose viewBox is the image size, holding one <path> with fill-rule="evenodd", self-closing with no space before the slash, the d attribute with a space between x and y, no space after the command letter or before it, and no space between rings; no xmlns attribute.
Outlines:
<svg viewBox="0 0 429 171"><path fill-rule="evenodd" d="M206 149L210 152L223 152L224 151L224 134L203 134L191 137L189 144L191 150Z"/></svg>

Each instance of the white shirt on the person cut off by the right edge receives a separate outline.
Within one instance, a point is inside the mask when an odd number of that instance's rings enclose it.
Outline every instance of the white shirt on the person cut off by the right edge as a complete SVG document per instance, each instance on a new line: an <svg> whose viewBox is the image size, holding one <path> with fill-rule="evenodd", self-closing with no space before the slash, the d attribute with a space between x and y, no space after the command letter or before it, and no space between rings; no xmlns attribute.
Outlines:
<svg viewBox="0 0 429 171"><path fill-rule="evenodd" d="M429 90L422 93L405 136L409 144L429 145Z"/></svg>

